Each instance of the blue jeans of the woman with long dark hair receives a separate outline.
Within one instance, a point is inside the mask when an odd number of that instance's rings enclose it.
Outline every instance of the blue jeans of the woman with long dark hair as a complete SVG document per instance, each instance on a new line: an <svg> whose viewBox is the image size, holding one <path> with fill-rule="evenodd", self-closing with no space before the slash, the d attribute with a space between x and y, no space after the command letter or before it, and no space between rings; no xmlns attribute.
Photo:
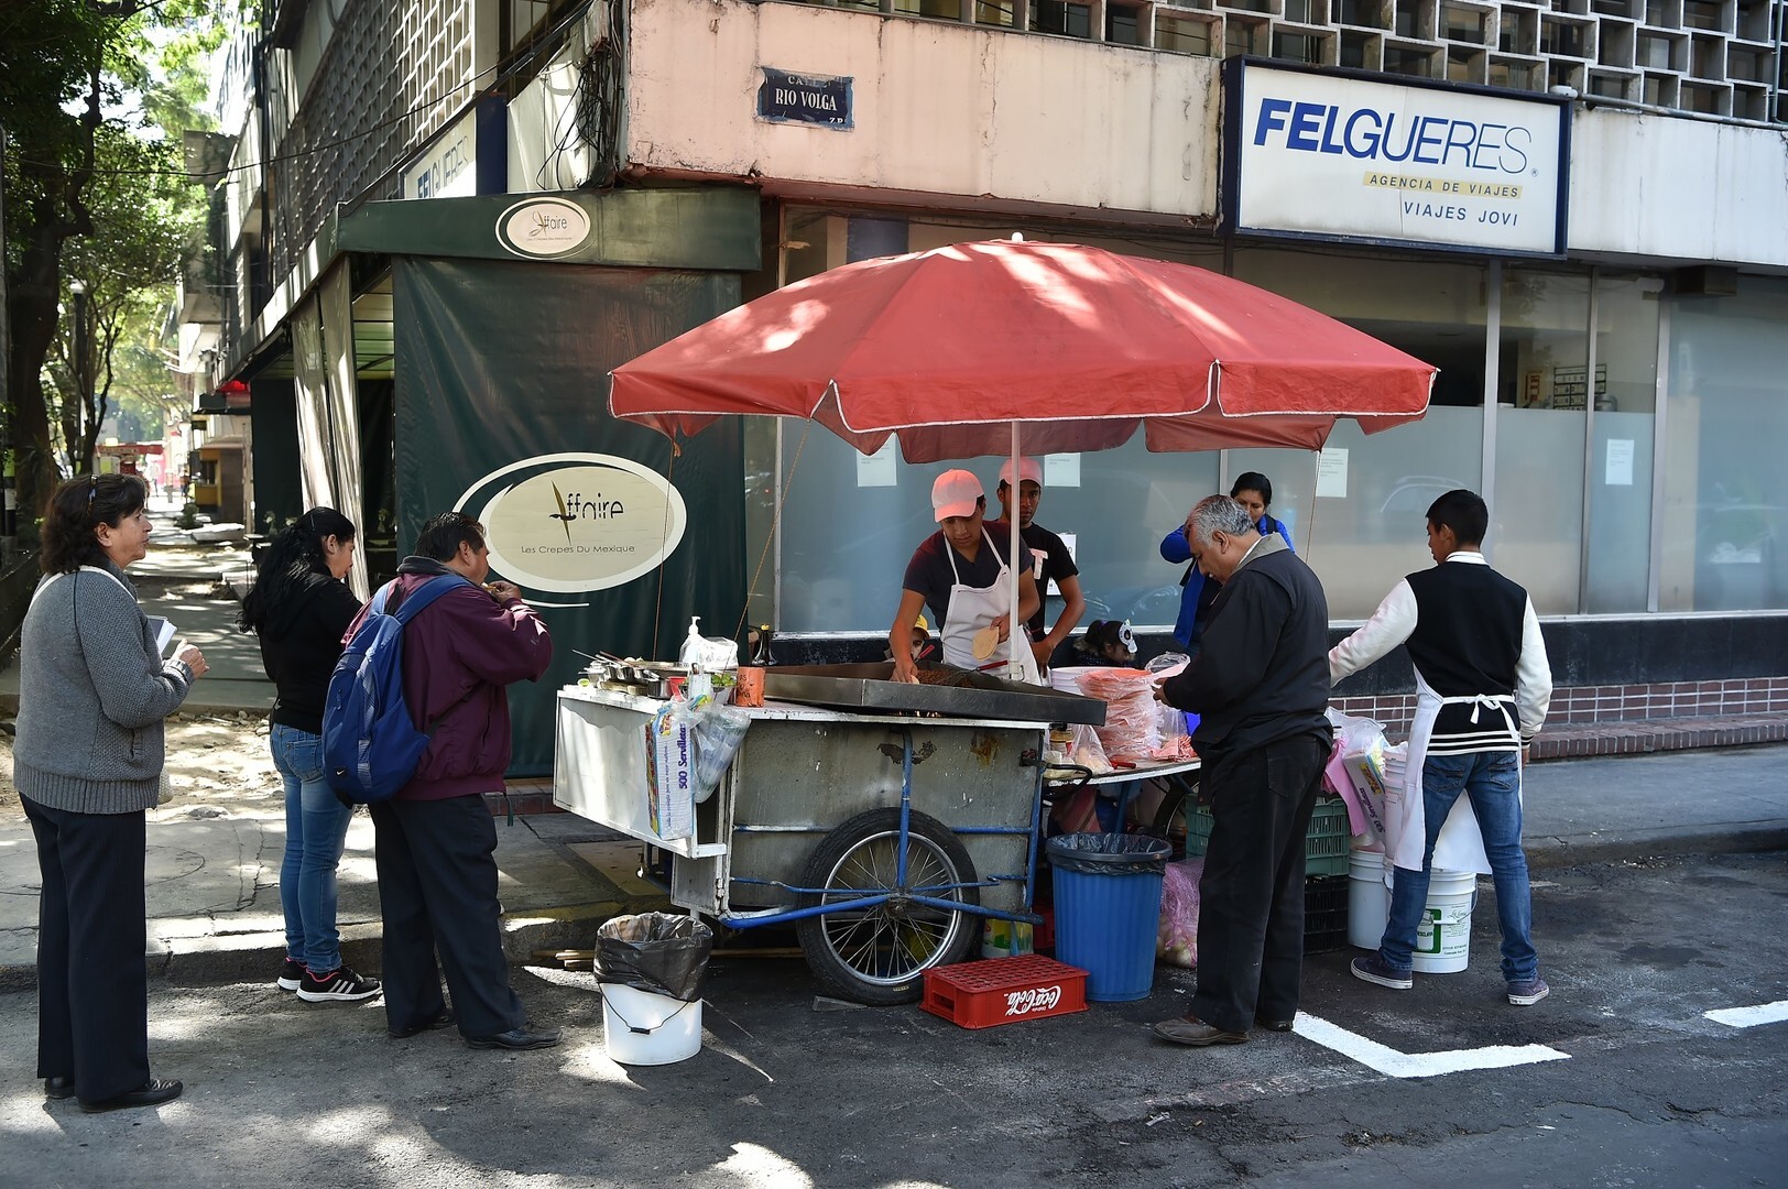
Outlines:
<svg viewBox="0 0 1788 1189"><path fill-rule="evenodd" d="M324 780L320 735L275 722L272 746L274 767L286 781L286 858L279 865L286 957L327 974L342 966L334 873L354 806L342 805Z"/></svg>

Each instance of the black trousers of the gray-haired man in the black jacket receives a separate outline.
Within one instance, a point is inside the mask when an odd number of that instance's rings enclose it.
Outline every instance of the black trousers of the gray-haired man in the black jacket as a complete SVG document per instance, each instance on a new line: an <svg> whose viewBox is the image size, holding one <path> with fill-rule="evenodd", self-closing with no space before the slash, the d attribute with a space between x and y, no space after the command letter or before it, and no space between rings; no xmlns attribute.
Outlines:
<svg viewBox="0 0 1788 1189"><path fill-rule="evenodd" d="M1255 1016L1291 1019L1303 976L1303 833L1330 744L1296 735L1205 756L1210 842L1198 881L1198 992L1193 1016L1248 1032Z"/></svg>

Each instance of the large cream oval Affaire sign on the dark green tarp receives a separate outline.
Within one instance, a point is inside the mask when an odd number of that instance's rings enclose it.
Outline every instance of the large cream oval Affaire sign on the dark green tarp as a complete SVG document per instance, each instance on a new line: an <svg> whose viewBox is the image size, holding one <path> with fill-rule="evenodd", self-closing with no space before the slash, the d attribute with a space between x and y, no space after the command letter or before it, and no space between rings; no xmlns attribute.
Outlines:
<svg viewBox="0 0 1788 1189"><path fill-rule="evenodd" d="M492 492L492 485L497 485ZM683 540L683 495L613 454L542 454L495 470L460 499L477 506L490 565L533 590L620 586L658 569Z"/></svg>

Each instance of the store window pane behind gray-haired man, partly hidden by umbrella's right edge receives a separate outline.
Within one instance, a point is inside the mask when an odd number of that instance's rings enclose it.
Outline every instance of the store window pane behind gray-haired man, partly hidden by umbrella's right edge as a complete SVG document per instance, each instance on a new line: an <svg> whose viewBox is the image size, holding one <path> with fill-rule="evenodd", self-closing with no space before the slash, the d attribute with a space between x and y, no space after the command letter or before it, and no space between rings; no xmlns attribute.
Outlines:
<svg viewBox="0 0 1788 1189"><path fill-rule="evenodd" d="M1246 470L1271 479L1271 511L1321 578L1328 615L1364 619L1398 578L1432 565L1429 504L1457 486L1480 488L1486 268L1252 249L1236 252L1236 275L1439 368L1421 420L1375 434L1354 420L1336 424L1321 490L1314 454L1228 451L1228 481Z"/></svg>

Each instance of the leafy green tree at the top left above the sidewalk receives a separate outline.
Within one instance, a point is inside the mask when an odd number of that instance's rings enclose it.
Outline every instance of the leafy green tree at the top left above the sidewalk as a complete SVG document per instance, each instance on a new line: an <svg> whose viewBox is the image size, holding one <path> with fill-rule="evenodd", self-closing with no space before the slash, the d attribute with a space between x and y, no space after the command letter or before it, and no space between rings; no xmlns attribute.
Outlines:
<svg viewBox="0 0 1788 1189"><path fill-rule="evenodd" d="M170 125L197 120L198 55L222 29L220 0L0 0L4 388L21 524L59 461L91 467L111 347L145 291L173 281L202 218ZM95 313L95 392L77 392L70 367L77 277Z"/></svg>

